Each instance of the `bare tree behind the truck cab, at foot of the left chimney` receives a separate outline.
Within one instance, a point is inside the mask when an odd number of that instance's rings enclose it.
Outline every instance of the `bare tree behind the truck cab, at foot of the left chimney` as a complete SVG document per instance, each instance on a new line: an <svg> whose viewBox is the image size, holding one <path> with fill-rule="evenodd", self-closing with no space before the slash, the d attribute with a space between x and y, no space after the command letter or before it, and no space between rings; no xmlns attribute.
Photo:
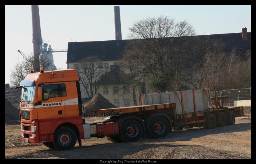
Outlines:
<svg viewBox="0 0 256 164"><path fill-rule="evenodd" d="M30 73L30 68L33 68L34 72L39 72L40 66L36 64L39 60L40 65L43 67L50 67L52 65L48 58L37 58L32 54L24 56L24 60L21 63L16 63L10 71L10 83L14 86L19 86L20 81L24 80L28 73Z"/></svg>

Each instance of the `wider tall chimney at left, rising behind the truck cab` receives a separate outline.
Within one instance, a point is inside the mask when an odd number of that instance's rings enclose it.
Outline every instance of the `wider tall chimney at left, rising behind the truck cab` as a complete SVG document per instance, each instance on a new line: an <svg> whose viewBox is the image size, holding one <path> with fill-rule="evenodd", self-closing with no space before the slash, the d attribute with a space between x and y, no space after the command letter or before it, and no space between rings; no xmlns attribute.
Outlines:
<svg viewBox="0 0 256 164"><path fill-rule="evenodd" d="M31 11L32 11L32 30L33 30L32 43L33 43L33 49L34 49L34 57L39 67L39 55L40 55L40 48L42 47L42 36L41 36L38 5L31 5Z"/></svg>

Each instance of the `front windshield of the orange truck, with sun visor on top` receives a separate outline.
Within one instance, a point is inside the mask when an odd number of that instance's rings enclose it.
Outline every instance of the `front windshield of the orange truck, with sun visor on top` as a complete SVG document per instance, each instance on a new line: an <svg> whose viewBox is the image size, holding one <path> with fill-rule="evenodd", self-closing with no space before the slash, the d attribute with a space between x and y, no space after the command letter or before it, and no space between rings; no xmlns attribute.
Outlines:
<svg viewBox="0 0 256 164"><path fill-rule="evenodd" d="M20 82L20 86L23 86L21 91L21 102L30 103L34 100L35 96L35 81L34 80L23 80Z"/></svg>

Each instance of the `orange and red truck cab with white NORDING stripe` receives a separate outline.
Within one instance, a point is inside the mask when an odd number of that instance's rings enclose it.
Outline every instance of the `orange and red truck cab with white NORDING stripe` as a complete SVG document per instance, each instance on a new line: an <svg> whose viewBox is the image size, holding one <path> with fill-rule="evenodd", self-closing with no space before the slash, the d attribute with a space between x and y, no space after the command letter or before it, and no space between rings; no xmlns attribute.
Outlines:
<svg viewBox="0 0 256 164"><path fill-rule="evenodd" d="M76 138L83 138L80 84L75 69L28 74L21 81L20 119L22 140L54 147L54 133L70 127ZM60 135L65 143L71 135Z"/></svg>

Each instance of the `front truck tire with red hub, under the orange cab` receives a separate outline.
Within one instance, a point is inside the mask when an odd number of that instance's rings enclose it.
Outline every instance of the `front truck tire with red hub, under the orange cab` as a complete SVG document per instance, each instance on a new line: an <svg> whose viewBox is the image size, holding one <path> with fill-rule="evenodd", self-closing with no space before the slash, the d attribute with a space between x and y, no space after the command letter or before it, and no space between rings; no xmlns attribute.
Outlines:
<svg viewBox="0 0 256 164"><path fill-rule="evenodd" d="M54 146L58 150L68 150L76 144L76 133L71 128L62 127L54 133Z"/></svg>

